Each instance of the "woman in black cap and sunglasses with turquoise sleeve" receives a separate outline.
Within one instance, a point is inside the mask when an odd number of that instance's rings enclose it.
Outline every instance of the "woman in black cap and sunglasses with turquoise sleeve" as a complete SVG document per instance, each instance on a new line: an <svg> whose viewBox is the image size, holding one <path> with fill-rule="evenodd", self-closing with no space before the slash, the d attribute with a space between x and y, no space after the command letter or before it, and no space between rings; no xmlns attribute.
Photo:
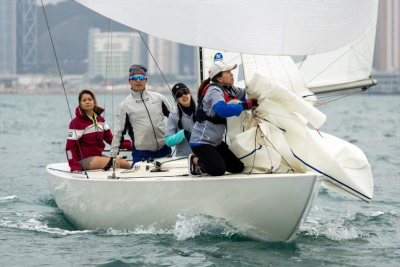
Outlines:
<svg viewBox="0 0 400 267"><path fill-rule="evenodd" d="M191 152L188 139L196 122L197 105L184 83L173 85L172 94L176 108L169 113L166 121L165 144L169 147L176 145L176 156L187 156Z"/></svg>

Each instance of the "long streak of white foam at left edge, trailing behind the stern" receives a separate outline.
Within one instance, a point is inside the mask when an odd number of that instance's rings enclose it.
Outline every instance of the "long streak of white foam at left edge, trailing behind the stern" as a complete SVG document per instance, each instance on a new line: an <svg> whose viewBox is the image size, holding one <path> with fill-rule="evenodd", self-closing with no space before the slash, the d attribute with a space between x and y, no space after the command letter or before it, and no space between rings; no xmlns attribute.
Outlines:
<svg viewBox="0 0 400 267"><path fill-rule="evenodd" d="M79 234L79 233L89 233L90 230L75 230L69 231L60 228L52 228L48 227L47 224L38 221L35 218L30 218L27 220L5 220L0 219L0 227L4 228L12 228L12 229L20 229L20 230L31 230L31 231L38 231L38 232L47 232L47 233L54 233L58 235L70 235L70 234Z"/></svg>

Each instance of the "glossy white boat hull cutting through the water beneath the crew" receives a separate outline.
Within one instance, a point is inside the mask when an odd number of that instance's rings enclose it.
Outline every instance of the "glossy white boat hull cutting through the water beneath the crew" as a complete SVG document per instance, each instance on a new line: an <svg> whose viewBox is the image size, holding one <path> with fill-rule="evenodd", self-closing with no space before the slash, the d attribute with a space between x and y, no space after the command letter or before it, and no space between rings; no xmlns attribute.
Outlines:
<svg viewBox="0 0 400 267"><path fill-rule="evenodd" d="M89 172L89 179L67 163L46 167L51 193L79 229L134 229L174 226L181 212L223 218L252 238L289 241L308 214L321 178L313 172L174 176L168 172L134 173L107 179L111 171ZM164 175L164 176L160 176ZM129 174L131 177L132 173ZM143 177L145 175L145 177Z"/></svg>

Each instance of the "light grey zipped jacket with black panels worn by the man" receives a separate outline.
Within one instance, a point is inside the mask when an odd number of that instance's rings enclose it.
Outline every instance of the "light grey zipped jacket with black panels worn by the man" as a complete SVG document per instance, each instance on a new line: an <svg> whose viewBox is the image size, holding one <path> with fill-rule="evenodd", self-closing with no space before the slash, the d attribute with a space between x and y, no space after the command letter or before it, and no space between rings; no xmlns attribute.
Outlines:
<svg viewBox="0 0 400 267"><path fill-rule="evenodd" d="M172 109L171 103L160 93L131 90L116 111L110 156L117 155L121 138L126 132L132 140L132 149L161 149L165 145L163 119Z"/></svg>

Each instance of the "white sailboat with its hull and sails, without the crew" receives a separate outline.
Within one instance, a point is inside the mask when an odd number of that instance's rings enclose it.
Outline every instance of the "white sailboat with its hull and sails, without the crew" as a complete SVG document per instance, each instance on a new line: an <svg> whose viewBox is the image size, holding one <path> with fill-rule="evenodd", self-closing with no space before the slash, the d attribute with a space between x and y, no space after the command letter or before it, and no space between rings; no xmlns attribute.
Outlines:
<svg viewBox="0 0 400 267"><path fill-rule="evenodd" d="M183 212L221 218L251 238L290 241L321 184L371 201L365 155L320 132L326 116L315 106L323 93L330 99L337 97L332 92L376 83L370 77L376 0L76 2L148 34L198 46L199 80L219 57L239 64L236 85L260 103L227 121L230 148L245 173L191 177L186 158L176 157L90 171L88 178L69 172L67 163L47 165L54 200L76 227L169 228Z"/></svg>

